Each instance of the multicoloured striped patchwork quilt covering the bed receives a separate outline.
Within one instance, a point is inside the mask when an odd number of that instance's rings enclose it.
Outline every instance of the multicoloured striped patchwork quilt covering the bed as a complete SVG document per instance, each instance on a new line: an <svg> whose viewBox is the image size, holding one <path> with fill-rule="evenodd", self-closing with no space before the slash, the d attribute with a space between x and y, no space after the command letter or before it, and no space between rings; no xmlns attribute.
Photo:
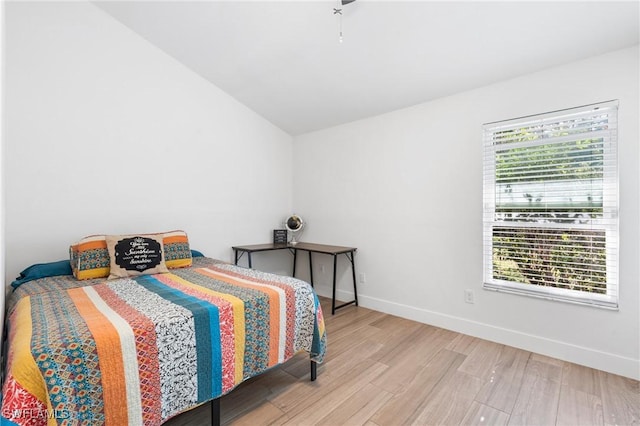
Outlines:
<svg viewBox="0 0 640 426"><path fill-rule="evenodd" d="M322 310L295 278L194 258L87 283L40 279L8 301L3 424L158 425L300 351L322 362Z"/></svg>

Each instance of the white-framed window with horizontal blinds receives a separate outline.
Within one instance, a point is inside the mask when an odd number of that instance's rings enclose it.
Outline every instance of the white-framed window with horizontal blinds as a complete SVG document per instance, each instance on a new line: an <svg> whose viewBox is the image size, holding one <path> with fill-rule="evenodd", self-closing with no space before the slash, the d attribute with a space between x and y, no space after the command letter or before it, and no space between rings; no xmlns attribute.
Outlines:
<svg viewBox="0 0 640 426"><path fill-rule="evenodd" d="M484 125L484 287L618 307L617 101Z"/></svg>

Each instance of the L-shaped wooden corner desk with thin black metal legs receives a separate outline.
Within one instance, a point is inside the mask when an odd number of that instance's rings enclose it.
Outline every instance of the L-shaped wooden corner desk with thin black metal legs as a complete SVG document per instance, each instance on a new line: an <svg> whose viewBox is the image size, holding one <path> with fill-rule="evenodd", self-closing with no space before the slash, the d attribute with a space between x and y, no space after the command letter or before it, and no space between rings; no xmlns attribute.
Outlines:
<svg viewBox="0 0 640 426"><path fill-rule="evenodd" d="M333 296L331 299L331 315L335 314L336 309L343 308L345 306L355 304L358 306L358 289L356 288L356 264L355 264L355 247L342 247L342 246L330 246L325 244L314 244L314 243L302 243L299 242L296 245L291 244L254 244L248 246L234 246L232 247L235 252L235 264L238 264L238 261L247 253L247 263L249 268L251 268L251 254L260 251L271 251L271 250L285 250L288 249L293 254L293 273L291 274L293 277L296 276L296 259L298 257L298 250L306 251L309 253L309 277L311 286L313 287L313 264L312 264L312 253L322 253L333 256ZM336 266L338 263L338 256L344 254L347 259L351 262L351 274L353 276L353 295L354 299L350 302L343 303L341 305L336 306Z"/></svg>

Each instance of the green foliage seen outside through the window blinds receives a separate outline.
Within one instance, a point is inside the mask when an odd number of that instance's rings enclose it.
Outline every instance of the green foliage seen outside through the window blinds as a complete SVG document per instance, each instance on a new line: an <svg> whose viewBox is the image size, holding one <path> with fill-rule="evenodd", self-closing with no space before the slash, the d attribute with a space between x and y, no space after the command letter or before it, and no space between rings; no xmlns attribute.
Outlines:
<svg viewBox="0 0 640 426"><path fill-rule="evenodd" d="M531 127L496 134L495 215L504 226L493 227L494 279L606 293L605 232L563 226L602 217L604 141L543 142L598 130L580 125L568 122L551 135ZM509 226L523 222L547 226Z"/></svg>

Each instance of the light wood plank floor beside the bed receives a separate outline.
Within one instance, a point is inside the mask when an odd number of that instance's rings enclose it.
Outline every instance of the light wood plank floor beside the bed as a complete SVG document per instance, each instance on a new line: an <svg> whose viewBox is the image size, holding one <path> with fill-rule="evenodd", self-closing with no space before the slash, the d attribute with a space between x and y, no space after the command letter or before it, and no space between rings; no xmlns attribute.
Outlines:
<svg viewBox="0 0 640 426"><path fill-rule="evenodd" d="M635 380L346 307L331 316L318 379L309 358L222 397L223 425L639 425ZM209 404L167 424L206 425Z"/></svg>

